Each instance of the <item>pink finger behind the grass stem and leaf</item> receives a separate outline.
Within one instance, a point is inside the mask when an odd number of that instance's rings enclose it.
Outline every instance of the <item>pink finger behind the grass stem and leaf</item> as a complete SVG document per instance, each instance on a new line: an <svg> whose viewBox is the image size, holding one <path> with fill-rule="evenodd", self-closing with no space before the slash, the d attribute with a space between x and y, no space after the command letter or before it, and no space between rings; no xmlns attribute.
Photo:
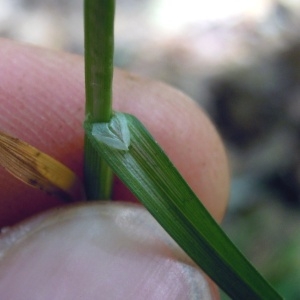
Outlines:
<svg viewBox="0 0 300 300"><path fill-rule="evenodd" d="M7 40L0 40L0 57L1 130L55 157L82 178L82 57ZM121 70L115 71L113 94L114 109L134 114L144 123L203 204L220 222L228 199L228 163L222 141L205 113L181 92ZM136 201L118 180L114 183L113 199ZM1 227L11 226L61 205L58 199L24 185L0 169ZM51 219L53 214L43 218ZM39 226L39 222L30 225L30 230L37 230ZM51 236L52 229L48 230L47 240L55 240ZM22 247L13 248L15 245L12 245L7 253L17 255L29 249L31 243L32 240L26 237ZM76 243L80 244L80 239ZM42 248L44 242L36 242L35 245ZM55 245L51 247L57 248ZM49 253L51 257L52 252ZM34 257L25 254L21 256L21 262L34 260ZM0 294L4 269L5 272L10 271L6 256L0 261Z"/></svg>

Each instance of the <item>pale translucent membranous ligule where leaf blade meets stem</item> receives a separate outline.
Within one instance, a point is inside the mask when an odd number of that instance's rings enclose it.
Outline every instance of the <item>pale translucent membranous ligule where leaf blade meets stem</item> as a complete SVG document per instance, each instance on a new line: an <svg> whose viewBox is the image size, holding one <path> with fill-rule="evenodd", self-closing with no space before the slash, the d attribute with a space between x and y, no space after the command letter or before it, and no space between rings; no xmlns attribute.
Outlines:
<svg viewBox="0 0 300 300"><path fill-rule="evenodd" d="M93 124L92 135L114 149L128 151L130 132L122 113L114 113L109 123Z"/></svg>

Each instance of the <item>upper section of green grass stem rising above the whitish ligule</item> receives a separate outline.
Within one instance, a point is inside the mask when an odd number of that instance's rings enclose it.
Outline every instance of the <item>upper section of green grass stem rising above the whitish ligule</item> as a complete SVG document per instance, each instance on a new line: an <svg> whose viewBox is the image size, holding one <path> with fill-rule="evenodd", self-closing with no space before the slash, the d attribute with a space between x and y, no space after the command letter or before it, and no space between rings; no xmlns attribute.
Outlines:
<svg viewBox="0 0 300 300"><path fill-rule="evenodd" d="M112 116L114 0L85 0L86 115L92 122Z"/></svg>

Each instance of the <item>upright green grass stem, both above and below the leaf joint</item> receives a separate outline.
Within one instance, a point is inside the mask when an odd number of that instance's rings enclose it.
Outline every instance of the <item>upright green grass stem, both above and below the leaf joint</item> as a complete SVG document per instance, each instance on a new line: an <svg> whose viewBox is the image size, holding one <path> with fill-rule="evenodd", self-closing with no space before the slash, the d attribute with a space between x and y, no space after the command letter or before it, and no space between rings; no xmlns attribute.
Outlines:
<svg viewBox="0 0 300 300"><path fill-rule="evenodd" d="M86 119L112 117L115 0L84 1ZM112 171L85 139L84 181L88 199L108 199Z"/></svg>

